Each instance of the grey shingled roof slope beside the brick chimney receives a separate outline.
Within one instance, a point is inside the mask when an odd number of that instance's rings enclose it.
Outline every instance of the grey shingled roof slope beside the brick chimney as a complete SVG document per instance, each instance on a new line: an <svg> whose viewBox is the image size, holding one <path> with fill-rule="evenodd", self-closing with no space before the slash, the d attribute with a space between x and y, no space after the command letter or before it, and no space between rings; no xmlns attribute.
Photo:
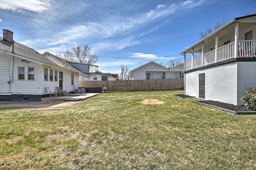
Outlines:
<svg viewBox="0 0 256 170"><path fill-rule="evenodd" d="M42 54L38 53L36 50L30 47L27 47L25 45L22 45L20 43L8 42L6 40L3 40L2 37L0 37L0 52L8 55L13 55L15 57L19 57L22 59L26 59L29 61L33 61L36 63L40 63L40 64L49 64L49 65L58 66L56 63L44 57Z"/></svg>

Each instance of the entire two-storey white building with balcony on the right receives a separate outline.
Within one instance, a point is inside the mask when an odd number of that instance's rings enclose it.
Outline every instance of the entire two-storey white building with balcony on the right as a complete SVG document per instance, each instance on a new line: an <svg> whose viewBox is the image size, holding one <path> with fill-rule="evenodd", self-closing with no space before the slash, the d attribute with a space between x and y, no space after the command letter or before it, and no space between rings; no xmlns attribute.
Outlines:
<svg viewBox="0 0 256 170"><path fill-rule="evenodd" d="M256 14L234 18L181 54L185 95L242 105L244 91L256 85Z"/></svg>

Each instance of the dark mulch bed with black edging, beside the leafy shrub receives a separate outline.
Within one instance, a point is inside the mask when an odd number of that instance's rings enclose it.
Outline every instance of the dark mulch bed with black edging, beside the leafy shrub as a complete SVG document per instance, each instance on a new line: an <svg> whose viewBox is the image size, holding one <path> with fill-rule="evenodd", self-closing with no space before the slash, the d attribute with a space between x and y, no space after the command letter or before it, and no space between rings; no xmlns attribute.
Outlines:
<svg viewBox="0 0 256 170"><path fill-rule="evenodd" d="M218 101L210 101L210 100L205 100L205 101L196 101L197 103L204 103L207 105L212 105L215 107L219 107L220 109L227 109L230 111L233 111L233 113L236 114L256 114L256 111L252 110L252 109L247 109L244 105L232 105L232 104L228 104L228 103L222 103L222 102L218 102Z"/></svg>

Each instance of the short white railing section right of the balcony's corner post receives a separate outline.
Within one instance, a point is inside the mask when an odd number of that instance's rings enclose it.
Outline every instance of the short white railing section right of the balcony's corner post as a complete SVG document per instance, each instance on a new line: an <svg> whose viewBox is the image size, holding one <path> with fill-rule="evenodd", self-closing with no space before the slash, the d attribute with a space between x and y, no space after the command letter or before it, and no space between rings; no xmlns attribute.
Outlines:
<svg viewBox="0 0 256 170"><path fill-rule="evenodd" d="M256 40L238 41L238 57L255 57Z"/></svg>

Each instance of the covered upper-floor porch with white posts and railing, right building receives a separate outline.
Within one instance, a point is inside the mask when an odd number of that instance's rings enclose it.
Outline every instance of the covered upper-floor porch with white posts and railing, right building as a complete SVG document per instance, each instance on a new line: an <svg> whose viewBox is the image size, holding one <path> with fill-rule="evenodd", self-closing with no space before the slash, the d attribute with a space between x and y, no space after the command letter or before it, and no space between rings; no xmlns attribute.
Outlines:
<svg viewBox="0 0 256 170"><path fill-rule="evenodd" d="M255 23L255 14L250 18L235 18L182 51L184 71L237 57L256 57Z"/></svg>

